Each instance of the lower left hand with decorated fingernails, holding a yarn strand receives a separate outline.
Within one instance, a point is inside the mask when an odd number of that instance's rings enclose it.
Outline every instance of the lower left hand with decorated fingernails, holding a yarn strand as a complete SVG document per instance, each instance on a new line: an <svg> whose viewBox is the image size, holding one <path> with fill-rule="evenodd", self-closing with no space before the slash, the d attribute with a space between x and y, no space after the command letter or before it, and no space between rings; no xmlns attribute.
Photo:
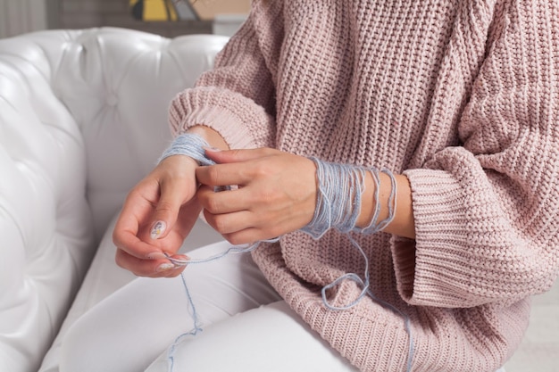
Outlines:
<svg viewBox="0 0 559 372"><path fill-rule="evenodd" d="M188 156L168 157L130 191L113 232L121 268L142 277L175 277L184 269L165 253L179 250L201 211L197 167Z"/></svg>

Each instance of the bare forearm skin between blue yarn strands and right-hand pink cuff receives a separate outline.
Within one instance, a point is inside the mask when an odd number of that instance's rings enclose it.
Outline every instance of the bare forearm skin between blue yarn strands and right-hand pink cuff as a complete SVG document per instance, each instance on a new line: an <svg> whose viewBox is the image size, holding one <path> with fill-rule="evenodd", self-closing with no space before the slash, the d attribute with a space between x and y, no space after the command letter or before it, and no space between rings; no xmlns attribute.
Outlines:
<svg viewBox="0 0 559 372"><path fill-rule="evenodd" d="M396 211L394 219L383 231L397 236L415 238L415 226L412 209L412 189L404 175L395 175L396 178ZM379 200L375 200L375 183L370 173L365 178L365 190L361 214L357 219L357 227L366 227L372 219L377 203L380 203L379 221L388 218L389 197L391 193L391 181L387 174L380 172Z"/></svg>

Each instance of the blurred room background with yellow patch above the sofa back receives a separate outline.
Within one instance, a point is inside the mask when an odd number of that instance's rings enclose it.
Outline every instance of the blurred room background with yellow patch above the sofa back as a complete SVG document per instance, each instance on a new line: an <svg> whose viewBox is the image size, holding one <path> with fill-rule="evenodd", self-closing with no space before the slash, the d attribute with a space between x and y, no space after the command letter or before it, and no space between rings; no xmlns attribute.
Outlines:
<svg viewBox="0 0 559 372"><path fill-rule="evenodd" d="M0 0L0 37L41 29L123 27L164 37L230 36L250 0Z"/></svg>

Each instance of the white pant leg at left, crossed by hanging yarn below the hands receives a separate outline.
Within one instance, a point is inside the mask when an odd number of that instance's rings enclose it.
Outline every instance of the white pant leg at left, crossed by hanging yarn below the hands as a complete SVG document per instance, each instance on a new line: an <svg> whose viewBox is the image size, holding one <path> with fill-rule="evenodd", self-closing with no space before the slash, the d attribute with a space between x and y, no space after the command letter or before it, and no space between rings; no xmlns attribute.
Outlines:
<svg viewBox="0 0 559 372"><path fill-rule="evenodd" d="M193 252L205 258L224 252L221 242ZM276 302L250 254L190 265L184 271L203 326ZM99 302L63 340L61 372L138 372L147 368L178 335L193 328L180 277L138 278Z"/></svg>

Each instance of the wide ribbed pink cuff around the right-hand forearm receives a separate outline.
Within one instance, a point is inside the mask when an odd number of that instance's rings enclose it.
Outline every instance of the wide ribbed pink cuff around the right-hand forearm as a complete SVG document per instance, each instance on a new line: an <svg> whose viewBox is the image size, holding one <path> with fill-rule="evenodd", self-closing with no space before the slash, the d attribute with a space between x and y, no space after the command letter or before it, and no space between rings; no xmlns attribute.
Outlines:
<svg viewBox="0 0 559 372"><path fill-rule="evenodd" d="M468 306L471 256L463 187L443 170L411 169L405 176L412 187L415 243L396 238L393 244L400 295L413 305Z"/></svg>

